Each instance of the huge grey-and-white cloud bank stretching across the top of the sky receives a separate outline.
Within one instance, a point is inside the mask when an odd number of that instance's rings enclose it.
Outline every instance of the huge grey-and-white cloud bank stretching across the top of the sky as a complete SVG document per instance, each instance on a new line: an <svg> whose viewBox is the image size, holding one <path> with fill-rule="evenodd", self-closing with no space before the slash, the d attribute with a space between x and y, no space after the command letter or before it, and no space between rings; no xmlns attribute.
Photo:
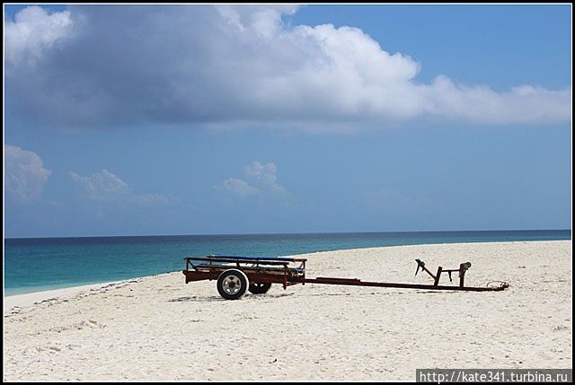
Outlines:
<svg viewBox="0 0 575 385"><path fill-rule="evenodd" d="M26 8L5 22L5 50L12 62L34 60L6 68L5 93L27 111L22 117L57 127L571 119L571 88L497 92L445 75L420 83L413 58L385 51L358 28L288 25L282 17L294 12L288 5ZM29 33L40 30L45 38Z"/></svg>

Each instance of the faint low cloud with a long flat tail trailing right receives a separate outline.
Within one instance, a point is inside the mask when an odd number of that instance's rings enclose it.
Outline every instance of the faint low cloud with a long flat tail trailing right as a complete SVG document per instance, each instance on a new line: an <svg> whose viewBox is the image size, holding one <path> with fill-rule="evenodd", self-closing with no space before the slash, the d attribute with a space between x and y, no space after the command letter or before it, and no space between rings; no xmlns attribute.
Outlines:
<svg viewBox="0 0 575 385"><path fill-rule="evenodd" d="M69 175L82 187L84 198L93 201L114 201L143 206L168 206L180 201L171 195L136 194L130 190L126 182L105 169L90 176L81 176L75 172L70 172Z"/></svg>

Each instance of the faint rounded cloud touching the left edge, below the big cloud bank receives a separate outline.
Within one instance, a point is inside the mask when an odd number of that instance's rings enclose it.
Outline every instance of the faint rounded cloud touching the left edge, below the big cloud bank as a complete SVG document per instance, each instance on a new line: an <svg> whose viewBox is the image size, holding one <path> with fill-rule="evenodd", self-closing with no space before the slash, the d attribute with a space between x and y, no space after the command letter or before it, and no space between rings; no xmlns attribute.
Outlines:
<svg viewBox="0 0 575 385"><path fill-rule="evenodd" d="M37 153L4 144L4 189L7 196L22 203L39 200L51 172L44 168Z"/></svg>

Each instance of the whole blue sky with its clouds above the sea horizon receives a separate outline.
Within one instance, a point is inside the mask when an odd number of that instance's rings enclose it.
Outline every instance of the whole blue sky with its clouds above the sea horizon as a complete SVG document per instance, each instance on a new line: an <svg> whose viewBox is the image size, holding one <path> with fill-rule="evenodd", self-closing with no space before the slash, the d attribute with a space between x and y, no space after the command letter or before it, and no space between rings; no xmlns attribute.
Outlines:
<svg viewBox="0 0 575 385"><path fill-rule="evenodd" d="M571 229L571 5L4 5L4 236Z"/></svg>

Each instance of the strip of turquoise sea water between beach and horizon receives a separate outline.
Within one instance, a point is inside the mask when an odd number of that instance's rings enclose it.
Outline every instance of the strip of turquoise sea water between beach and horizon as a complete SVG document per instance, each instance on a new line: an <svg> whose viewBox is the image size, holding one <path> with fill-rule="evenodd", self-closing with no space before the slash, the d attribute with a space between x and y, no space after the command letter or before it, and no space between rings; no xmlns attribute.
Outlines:
<svg viewBox="0 0 575 385"><path fill-rule="evenodd" d="M4 293L31 293L181 270L184 257L276 257L426 243L571 240L571 230L355 232L4 240Z"/></svg>

